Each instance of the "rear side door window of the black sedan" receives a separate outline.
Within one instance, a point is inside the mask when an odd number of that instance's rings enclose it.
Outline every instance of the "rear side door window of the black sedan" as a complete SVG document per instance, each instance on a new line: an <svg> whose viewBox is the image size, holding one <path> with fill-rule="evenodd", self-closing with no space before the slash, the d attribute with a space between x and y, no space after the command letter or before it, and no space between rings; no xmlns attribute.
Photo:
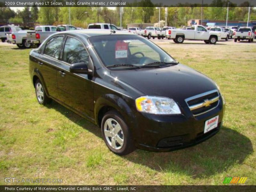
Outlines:
<svg viewBox="0 0 256 192"><path fill-rule="evenodd" d="M44 54L59 59L63 36L51 38L45 45Z"/></svg>

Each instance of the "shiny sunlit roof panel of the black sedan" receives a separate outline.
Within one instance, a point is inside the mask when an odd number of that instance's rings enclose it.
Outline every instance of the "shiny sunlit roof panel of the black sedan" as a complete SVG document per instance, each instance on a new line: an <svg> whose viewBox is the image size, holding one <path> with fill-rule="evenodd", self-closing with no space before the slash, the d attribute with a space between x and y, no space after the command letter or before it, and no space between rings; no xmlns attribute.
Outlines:
<svg viewBox="0 0 256 192"><path fill-rule="evenodd" d="M115 30L115 33L113 33L114 30L110 29L78 29L78 30L70 30L70 31L62 31L58 32L58 34L64 33L64 34L73 34L73 35L84 35L87 37L91 36L101 36L101 35L135 35L132 33L129 33L128 31L117 31Z"/></svg>

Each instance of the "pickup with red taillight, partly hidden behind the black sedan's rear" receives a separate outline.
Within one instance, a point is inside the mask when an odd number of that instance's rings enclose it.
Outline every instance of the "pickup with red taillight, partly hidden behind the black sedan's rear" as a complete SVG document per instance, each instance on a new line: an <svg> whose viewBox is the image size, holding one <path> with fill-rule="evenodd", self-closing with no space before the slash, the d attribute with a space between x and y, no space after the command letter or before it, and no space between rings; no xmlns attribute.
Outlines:
<svg viewBox="0 0 256 192"><path fill-rule="evenodd" d="M48 36L56 33L57 27L51 25L36 26L35 31L27 33L27 42L35 44L37 47L46 39Z"/></svg>

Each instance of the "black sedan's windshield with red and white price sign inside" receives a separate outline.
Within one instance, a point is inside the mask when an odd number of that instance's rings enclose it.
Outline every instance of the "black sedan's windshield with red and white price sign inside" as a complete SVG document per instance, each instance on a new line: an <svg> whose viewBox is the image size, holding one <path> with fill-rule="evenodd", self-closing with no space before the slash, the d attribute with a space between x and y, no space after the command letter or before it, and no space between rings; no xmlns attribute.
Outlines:
<svg viewBox="0 0 256 192"><path fill-rule="evenodd" d="M106 67L143 67L176 64L170 55L151 41L135 35L92 36L90 43Z"/></svg>

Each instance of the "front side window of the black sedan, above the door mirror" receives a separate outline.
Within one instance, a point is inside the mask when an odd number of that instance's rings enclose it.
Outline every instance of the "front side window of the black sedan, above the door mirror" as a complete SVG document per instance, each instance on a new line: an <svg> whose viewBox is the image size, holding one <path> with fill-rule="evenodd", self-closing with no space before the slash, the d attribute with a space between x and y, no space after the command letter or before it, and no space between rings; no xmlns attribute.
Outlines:
<svg viewBox="0 0 256 192"><path fill-rule="evenodd" d="M79 40L68 37L64 46L63 61L70 64L85 62L87 65L89 54Z"/></svg>

